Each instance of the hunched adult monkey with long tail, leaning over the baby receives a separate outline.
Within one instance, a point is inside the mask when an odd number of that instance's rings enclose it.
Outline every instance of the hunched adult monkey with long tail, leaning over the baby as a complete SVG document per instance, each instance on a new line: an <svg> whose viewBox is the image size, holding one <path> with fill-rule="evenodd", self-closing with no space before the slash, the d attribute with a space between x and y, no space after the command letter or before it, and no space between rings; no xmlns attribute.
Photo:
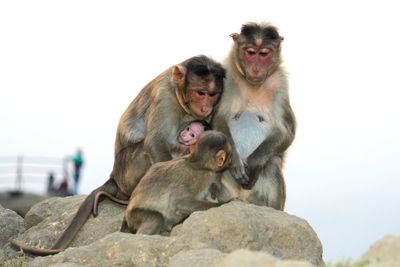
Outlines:
<svg viewBox="0 0 400 267"><path fill-rule="evenodd" d="M147 84L122 114L115 141L110 179L91 192L69 226L50 249L10 241L36 255L64 250L92 212L96 195L105 192L117 199L128 198L151 164L173 158L179 151L181 125L209 120L223 92L224 68L206 56L192 57L167 69Z"/></svg>

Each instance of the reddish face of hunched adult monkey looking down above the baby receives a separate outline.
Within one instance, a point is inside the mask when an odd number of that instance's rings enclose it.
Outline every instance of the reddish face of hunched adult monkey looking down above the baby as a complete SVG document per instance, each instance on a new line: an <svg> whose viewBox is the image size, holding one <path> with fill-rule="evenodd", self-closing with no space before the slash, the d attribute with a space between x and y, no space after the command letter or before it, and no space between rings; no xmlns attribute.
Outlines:
<svg viewBox="0 0 400 267"><path fill-rule="evenodd" d="M200 77L189 80L187 104L197 119L207 118L218 102L221 90L216 87L214 79Z"/></svg>

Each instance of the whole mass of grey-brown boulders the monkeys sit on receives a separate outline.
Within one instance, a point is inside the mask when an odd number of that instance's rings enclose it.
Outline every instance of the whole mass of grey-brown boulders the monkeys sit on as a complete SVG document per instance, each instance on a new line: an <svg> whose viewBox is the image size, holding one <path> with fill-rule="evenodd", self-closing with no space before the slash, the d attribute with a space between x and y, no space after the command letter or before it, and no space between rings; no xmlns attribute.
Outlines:
<svg viewBox="0 0 400 267"><path fill-rule="evenodd" d="M52 198L35 205L25 217L29 229L18 240L51 247L83 199ZM263 266L267 262L274 262L274 266L324 264L321 243L310 225L267 207L234 201L195 212L170 236L120 233L124 207L103 201L99 211L97 218L89 218L70 248L54 256L27 257L29 265L239 266L231 261L243 262L241 266ZM257 259L259 265L251 265L250 259Z"/></svg>

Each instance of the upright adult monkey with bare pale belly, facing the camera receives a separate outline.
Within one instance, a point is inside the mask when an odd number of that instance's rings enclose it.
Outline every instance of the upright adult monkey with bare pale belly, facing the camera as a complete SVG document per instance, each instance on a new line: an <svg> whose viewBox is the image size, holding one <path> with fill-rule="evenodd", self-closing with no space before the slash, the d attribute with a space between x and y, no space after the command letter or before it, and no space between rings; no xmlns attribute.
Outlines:
<svg viewBox="0 0 400 267"><path fill-rule="evenodd" d="M281 67L283 38L276 27L257 23L244 24L240 34L230 36L234 43L223 64L227 90L212 121L213 129L233 142L230 175L223 183L228 195L283 210L282 165L296 130Z"/></svg>

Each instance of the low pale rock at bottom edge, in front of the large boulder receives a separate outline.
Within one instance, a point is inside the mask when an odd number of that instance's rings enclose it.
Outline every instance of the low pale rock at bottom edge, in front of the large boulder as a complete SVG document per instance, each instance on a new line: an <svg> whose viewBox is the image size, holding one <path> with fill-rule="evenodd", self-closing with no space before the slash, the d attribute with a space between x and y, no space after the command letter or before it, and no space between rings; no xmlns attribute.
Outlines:
<svg viewBox="0 0 400 267"><path fill-rule="evenodd" d="M293 261L293 260L280 261L278 258L275 258L272 255L265 252L240 249L230 253L216 266L217 267L265 267L265 266L312 267L313 265L307 261Z"/></svg>

